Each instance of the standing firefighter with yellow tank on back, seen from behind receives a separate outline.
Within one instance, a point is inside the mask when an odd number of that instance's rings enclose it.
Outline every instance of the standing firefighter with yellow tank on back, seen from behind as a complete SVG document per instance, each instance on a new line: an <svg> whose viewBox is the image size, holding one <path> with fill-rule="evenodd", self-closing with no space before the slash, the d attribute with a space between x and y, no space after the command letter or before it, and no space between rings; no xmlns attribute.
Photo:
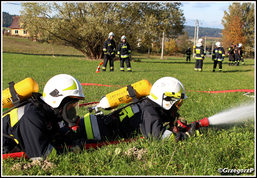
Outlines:
<svg viewBox="0 0 257 178"><path fill-rule="evenodd" d="M200 38L194 49L195 58L196 58L195 71L200 71L200 72L202 71L203 60L204 60L203 41L204 40Z"/></svg>

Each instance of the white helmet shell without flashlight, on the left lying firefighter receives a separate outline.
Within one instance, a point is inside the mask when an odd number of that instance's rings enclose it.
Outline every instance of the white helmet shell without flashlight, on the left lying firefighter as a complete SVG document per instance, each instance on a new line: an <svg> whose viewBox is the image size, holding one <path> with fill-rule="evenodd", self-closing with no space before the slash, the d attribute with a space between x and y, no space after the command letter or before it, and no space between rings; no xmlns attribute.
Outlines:
<svg viewBox="0 0 257 178"><path fill-rule="evenodd" d="M59 74L48 80L40 98L51 107L57 108L66 97L85 99L83 88L76 78Z"/></svg>

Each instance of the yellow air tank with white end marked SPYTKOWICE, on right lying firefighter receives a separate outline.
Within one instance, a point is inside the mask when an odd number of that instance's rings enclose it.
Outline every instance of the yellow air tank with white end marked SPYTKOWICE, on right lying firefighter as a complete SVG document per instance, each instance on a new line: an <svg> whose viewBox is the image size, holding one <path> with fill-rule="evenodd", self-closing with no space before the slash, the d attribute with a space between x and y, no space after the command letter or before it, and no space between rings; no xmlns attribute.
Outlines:
<svg viewBox="0 0 257 178"><path fill-rule="evenodd" d="M135 90L137 99L142 96L147 96L150 94L152 84L148 80L141 80L139 82L131 84L131 87ZM101 98L98 107L104 110L111 110L117 108L120 104L127 104L132 101L129 97L127 87L116 90L112 93L105 95Z"/></svg>

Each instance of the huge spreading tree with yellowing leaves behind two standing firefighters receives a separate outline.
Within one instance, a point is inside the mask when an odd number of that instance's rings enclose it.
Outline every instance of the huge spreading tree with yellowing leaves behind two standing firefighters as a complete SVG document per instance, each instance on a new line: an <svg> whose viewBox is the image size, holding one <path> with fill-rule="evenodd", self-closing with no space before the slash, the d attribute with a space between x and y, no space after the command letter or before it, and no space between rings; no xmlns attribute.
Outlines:
<svg viewBox="0 0 257 178"><path fill-rule="evenodd" d="M103 56L103 43L115 34L116 45L125 35L132 49L151 44L164 31L182 33L185 18L181 3L22 3L20 25L31 36L62 42L90 59Z"/></svg>

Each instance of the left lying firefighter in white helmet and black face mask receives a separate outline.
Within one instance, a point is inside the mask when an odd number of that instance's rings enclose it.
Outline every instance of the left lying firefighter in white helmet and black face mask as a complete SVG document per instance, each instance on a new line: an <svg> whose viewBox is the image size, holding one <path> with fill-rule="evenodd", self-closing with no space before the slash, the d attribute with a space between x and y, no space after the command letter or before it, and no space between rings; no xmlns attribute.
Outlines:
<svg viewBox="0 0 257 178"><path fill-rule="evenodd" d="M43 94L32 95L34 99L2 116L3 154L23 151L31 160L44 160L50 154L83 149L84 140L63 139L62 145L75 146L68 149L55 147L57 142L61 146L58 122L63 121L70 132L79 131L78 102L85 99L80 82L70 75L59 74L46 83ZM54 142L56 139L58 141Z"/></svg>

